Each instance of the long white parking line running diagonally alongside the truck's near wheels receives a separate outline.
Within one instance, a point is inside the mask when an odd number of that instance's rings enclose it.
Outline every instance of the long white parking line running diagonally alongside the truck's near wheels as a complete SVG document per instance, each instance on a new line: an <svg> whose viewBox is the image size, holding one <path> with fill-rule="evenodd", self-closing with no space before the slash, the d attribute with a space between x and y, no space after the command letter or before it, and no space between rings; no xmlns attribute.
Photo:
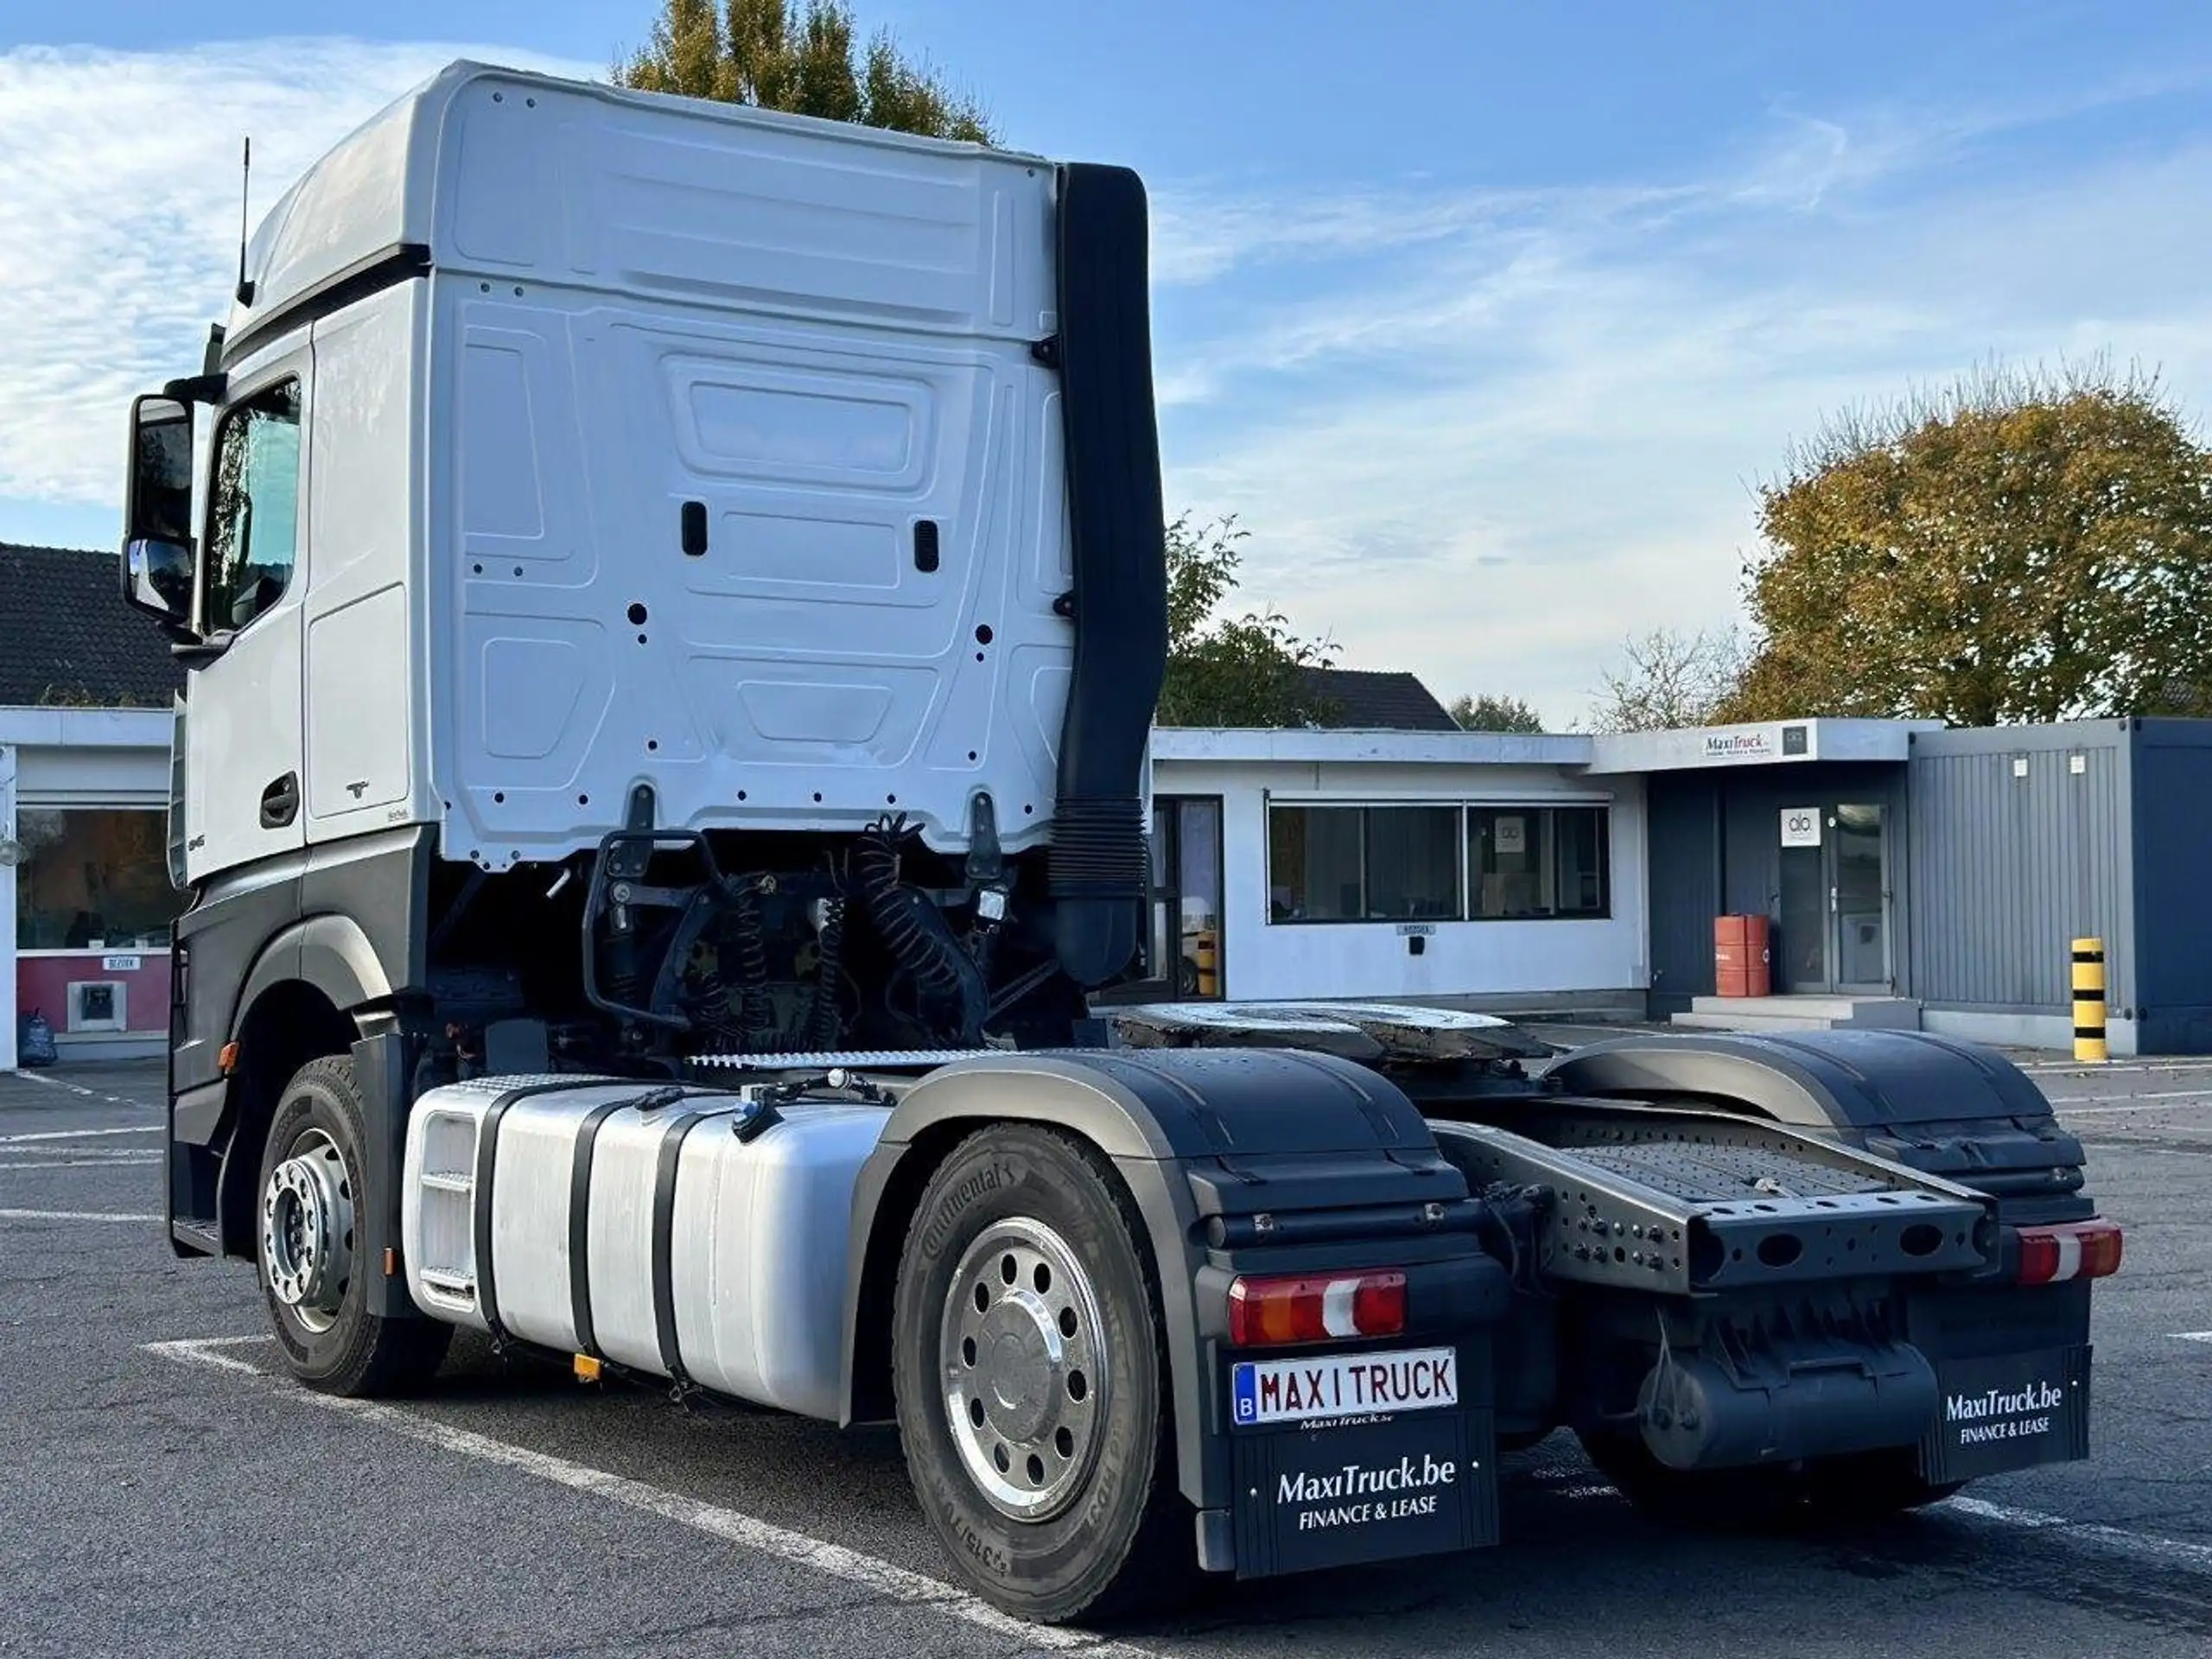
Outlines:
<svg viewBox="0 0 2212 1659"><path fill-rule="evenodd" d="M265 1378L268 1371L261 1371L232 1354L212 1352L217 1347L257 1340L268 1338L208 1336L179 1343L146 1343L146 1352L157 1354L164 1360L212 1365L223 1371L246 1371L250 1376ZM874 1590L889 1601L936 1608L938 1613L964 1619L967 1624L991 1630L993 1635L1018 1637L1033 1648L1099 1655L1102 1659L1152 1659L1144 1648L1104 1641L1084 1630L1062 1630L1055 1626L1015 1619L1013 1615L1000 1613L989 1601L967 1595L942 1579L927 1577L925 1573L911 1573L874 1555L845 1548L843 1544L830 1544L825 1540L807 1537L805 1533L794 1533L785 1526L763 1522L757 1515L743 1515L734 1509L721 1509L717 1504L699 1502L697 1498L661 1491L659 1486L648 1486L646 1482L630 1480L628 1475L611 1475L604 1469L591 1469L580 1462L568 1462L566 1458L553 1458L544 1451L513 1447L504 1440L476 1433L473 1429L453 1429L416 1411L400 1411L398 1407L376 1405L374 1400L347 1400L334 1394L312 1394L307 1389L290 1391L285 1398L301 1400L303 1405L316 1405L325 1411L338 1411L343 1416L358 1418L361 1422L374 1422L378 1429L389 1429L392 1433L407 1436L409 1440L420 1440L438 1451L478 1458L480 1462L500 1464L502 1469L549 1480L555 1486L568 1486L571 1491L604 1498L606 1502L622 1504L624 1509L637 1509L646 1515L679 1522L730 1544L774 1555L783 1562L792 1562L794 1566L805 1566L847 1584L858 1584L860 1588Z"/></svg>

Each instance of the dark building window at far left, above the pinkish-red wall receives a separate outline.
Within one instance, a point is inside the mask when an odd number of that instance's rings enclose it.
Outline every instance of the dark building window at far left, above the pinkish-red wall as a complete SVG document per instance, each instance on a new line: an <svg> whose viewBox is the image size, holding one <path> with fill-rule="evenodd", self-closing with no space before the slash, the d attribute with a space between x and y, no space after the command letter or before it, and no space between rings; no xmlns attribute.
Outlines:
<svg viewBox="0 0 2212 1659"><path fill-rule="evenodd" d="M24 807L15 814L15 947L166 949L181 909L159 812Z"/></svg>

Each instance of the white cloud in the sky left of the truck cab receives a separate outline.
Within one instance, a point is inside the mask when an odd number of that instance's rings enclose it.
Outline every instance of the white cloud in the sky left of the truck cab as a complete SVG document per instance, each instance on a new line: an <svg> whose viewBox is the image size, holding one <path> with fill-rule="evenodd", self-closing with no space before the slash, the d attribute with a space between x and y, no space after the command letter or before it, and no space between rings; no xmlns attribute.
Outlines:
<svg viewBox="0 0 2212 1659"><path fill-rule="evenodd" d="M0 53L0 495L113 507L133 394L199 369L230 303L239 139L254 212L453 58L507 51L252 40Z"/></svg>

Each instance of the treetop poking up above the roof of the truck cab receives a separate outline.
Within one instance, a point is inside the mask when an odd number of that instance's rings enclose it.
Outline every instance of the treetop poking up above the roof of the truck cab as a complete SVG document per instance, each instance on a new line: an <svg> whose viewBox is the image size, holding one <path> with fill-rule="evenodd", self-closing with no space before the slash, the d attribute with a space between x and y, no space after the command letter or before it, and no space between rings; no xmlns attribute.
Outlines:
<svg viewBox="0 0 2212 1659"><path fill-rule="evenodd" d="M843 0L661 0L646 44L615 66L644 93L719 97L925 137L991 144L991 122L887 29L863 51Z"/></svg>

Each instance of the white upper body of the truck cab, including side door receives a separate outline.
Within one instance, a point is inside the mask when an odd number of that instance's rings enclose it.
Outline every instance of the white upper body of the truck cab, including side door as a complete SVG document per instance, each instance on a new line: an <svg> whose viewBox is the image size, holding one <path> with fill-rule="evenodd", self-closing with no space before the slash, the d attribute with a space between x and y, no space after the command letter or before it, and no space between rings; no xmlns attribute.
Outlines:
<svg viewBox="0 0 2212 1659"><path fill-rule="evenodd" d="M1051 164L456 64L221 347L186 876L898 807L1042 845L1073 628Z"/></svg>

